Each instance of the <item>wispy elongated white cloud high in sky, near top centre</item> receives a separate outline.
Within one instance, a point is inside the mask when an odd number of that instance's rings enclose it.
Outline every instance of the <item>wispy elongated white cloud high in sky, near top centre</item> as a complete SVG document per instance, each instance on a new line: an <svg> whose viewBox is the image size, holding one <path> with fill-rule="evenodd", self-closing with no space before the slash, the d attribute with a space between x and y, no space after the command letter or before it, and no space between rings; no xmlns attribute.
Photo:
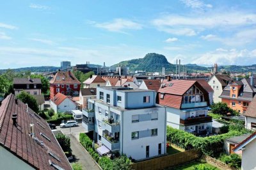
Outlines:
<svg viewBox="0 0 256 170"><path fill-rule="evenodd" d="M88 24L92 24L95 27L100 27L103 29L107 29L108 31L125 33L125 29L142 29L142 25L138 22L134 22L132 20L127 19L115 19L111 22L103 22L97 23L94 21L87 22Z"/></svg>

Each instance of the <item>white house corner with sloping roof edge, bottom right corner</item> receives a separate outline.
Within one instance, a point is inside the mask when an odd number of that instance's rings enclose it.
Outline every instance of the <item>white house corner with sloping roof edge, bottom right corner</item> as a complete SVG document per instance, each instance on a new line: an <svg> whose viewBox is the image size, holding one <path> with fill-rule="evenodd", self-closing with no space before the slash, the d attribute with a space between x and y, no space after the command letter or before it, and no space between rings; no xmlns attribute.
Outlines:
<svg viewBox="0 0 256 170"><path fill-rule="evenodd" d="M239 143L234 149L235 152L242 150L242 170L256 169L255 151L256 151L256 132L250 135L244 141Z"/></svg>

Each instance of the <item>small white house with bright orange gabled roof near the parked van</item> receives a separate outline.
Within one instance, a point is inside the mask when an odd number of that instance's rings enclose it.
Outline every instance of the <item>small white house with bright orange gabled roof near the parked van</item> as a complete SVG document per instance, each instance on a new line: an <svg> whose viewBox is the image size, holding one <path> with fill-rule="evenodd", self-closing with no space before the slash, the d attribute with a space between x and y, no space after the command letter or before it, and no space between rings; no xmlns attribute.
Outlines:
<svg viewBox="0 0 256 170"><path fill-rule="evenodd" d="M77 105L66 95L57 93L54 98L50 100L51 108L54 112L70 112L77 109Z"/></svg>

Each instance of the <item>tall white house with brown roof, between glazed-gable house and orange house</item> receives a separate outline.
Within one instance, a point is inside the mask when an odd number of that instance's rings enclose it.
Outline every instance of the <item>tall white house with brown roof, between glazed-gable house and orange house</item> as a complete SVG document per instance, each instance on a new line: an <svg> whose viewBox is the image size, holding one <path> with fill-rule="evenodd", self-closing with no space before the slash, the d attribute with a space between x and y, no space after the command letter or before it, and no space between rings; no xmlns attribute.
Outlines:
<svg viewBox="0 0 256 170"><path fill-rule="evenodd" d="M211 79L208 81L208 84L213 89L213 102L218 103L221 102L220 95L223 89L233 80L229 77L229 75L213 75Z"/></svg>

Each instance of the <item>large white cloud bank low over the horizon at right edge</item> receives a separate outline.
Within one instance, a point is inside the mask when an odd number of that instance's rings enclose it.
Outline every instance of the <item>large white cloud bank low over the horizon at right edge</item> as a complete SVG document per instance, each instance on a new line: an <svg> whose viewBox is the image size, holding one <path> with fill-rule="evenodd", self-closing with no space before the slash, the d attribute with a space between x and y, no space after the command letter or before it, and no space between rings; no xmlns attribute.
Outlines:
<svg viewBox="0 0 256 170"><path fill-rule="evenodd" d="M198 65L252 65L256 61L255 50L237 50L237 49L216 49L211 52L202 54L199 58L195 59L193 63Z"/></svg>

